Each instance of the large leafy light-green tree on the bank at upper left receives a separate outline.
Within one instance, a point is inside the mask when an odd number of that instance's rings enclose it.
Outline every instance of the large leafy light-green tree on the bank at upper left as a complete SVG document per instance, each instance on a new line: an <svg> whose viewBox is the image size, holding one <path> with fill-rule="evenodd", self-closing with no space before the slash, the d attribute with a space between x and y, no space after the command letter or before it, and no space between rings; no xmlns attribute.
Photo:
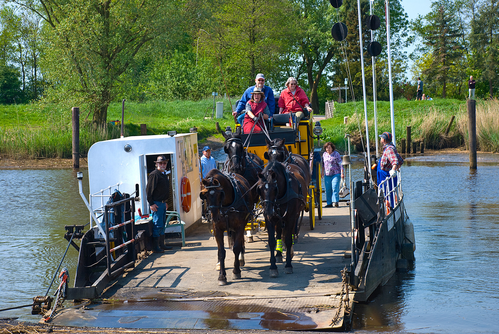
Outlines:
<svg viewBox="0 0 499 334"><path fill-rule="evenodd" d="M54 100L80 97L104 127L121 75L156 37L182 32L197 0L14 0L45 22L44 60ZM193 17L191 17L193 18ZM58 94L58 95L57 95Z"/></svg>

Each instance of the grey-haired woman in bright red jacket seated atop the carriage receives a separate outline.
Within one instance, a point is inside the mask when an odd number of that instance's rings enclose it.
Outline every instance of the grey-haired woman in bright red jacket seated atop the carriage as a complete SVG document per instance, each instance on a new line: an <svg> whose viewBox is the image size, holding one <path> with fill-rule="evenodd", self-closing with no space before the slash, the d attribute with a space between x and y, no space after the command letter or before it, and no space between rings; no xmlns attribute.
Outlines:
<svg viewBox="0 0 499 334"><path fill-rule="evenodd" d="M289 77L286 81L286 87L279 97L279 114L295 113L297 122L299 122L305 117L303 109L309 113L312 111L310 102L303 89L298 87L295 78Z"/></svg>

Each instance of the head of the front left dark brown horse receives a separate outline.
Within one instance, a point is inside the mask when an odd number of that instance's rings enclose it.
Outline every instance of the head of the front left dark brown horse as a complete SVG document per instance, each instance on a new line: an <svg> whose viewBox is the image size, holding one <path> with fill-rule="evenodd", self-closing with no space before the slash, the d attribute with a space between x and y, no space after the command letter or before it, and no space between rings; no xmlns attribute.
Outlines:
<svg viewBox="0 0 499 334"><path fill-rule="evenodd" d="M219 221L220 208L222 203L226 199L226 194L224 191L224 174L222 174L218 169L212 169L208 172L206 177L201 181L204 189L199 193L199 197L202 200L206 200L208 207L212 213L212 218L215 221Z"/></svg>

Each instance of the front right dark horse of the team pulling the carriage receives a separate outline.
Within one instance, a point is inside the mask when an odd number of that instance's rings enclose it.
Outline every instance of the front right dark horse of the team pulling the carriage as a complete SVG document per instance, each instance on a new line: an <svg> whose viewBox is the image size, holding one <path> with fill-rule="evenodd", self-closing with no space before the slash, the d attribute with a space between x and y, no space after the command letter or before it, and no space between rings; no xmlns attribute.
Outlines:
<svg viewBox="0 0 499 334"><path fill-rule="evenodd" d="M308 191L308 184L301 173L302 170L299 167L285 166L277 161L270 161L265 169L258 173L257 193L263 206L270 247L270 277L277 277L279 274L275 265L275 232L277 232L277 239L280 239L282 235L286 245L284 274L293 273L292 234L299 214L305 207ZM279 255L282 258L280 251L277 250L277 256Z"/></svg>

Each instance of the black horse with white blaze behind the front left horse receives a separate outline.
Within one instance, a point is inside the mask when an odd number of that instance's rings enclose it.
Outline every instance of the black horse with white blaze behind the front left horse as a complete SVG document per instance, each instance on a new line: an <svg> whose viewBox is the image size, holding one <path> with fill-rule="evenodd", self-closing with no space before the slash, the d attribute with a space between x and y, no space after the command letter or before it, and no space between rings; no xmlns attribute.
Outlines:
<svg viewBox="0 0 499 334"><path fill-rule="evenodd" d="M253 186L258 181L258 172L263 170L263 161L258 156L245 152L241 127L235 133L222 131L222 135L225 138L224 151L229 155L224 170L242 175ZM252 190L252 193L256 197L256 190Z"/></svg>

